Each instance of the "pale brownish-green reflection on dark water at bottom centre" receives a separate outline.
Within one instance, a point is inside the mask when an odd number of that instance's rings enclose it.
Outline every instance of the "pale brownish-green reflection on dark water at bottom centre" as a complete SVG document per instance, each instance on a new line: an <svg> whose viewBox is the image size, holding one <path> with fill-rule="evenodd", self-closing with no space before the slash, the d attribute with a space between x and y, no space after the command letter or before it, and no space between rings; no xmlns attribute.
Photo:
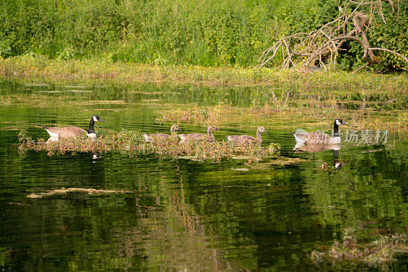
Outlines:
<svg viewBox="0 0 408 272"><path fill-rule="evenodd" d="M165 201L157 197L155 205L144 205L136 198L137 226L119 234L115 267L132 268L138 262L139 267L160 270L237 269L223 259L223 252L212 248L211 225L206 235L203 220L185 202L183 174L175 167L180 182L162 184L168 196Z"/></svg>

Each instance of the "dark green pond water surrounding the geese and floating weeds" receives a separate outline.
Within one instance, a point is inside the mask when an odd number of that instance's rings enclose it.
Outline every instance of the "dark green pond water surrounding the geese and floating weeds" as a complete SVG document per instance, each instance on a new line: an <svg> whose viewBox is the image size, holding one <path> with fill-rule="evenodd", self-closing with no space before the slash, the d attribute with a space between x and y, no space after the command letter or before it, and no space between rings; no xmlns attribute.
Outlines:
<svg viewBox="0 0 408 272"><path fill-rule="evenodd" d="M333 96L338 109L359 109L363 117L392 115L408 107L405 98L390 100L380 93L363 97L358 91L333 95L267 86L114 88L1 81L0 268L325 270L330 266L316 266L307 254L341 240L348 226L368 238L408 233L408 148L398 134L374 145L345 141L343 134L340 150L293 152L295 140L289 132L299 128L296 120L287 124L266 117L217 124L217 141L231 134L253 135L254 128L265 126L263 146L281 144L284 158L301 159L295 164L278 164L276 158L248 166L245 160L227 158L214 163L130 157L115 150L52 157L18 153L22 128L33 139L47 139L41 125L86 128L94 114L105 121L96 123L99 129L168 133L171 122L158 124L156 118L189 103L209 106L228 99L233 106L249 107L253 101L263 105L285 100L307 107L321 102L323 111L325 99ZM328 130L331 124L327 120ZM205 132L207 127L179 125L183 132ZM324 127L311 123L301 128ZM347 129L340 127L341 132ZM122 192L28 198L62 187ZM406 267L408 259L401 255L391 268Z"/></svg>

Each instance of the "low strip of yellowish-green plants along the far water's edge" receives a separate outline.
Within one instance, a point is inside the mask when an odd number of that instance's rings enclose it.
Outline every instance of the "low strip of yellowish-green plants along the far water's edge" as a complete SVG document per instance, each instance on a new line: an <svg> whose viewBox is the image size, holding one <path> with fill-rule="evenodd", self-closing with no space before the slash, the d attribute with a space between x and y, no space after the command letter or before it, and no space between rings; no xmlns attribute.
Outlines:
<svg viewBox="0 0 408 272"><path fill-rule="evenodd" d="M293 90L327 92L336 89L362 89L389 93L391 96L406 94L408 77L402 74L352 74L344 71L301 73L268 68L202 67L202 66L152 66L135 63L100 61L95 59L58 60L45 56L17 56L0 58L0 76L18 78L29 82L63 81L66 84L110 84L112 86L136 83L173 83L211 86L236 85L285 85Z"/></svg>

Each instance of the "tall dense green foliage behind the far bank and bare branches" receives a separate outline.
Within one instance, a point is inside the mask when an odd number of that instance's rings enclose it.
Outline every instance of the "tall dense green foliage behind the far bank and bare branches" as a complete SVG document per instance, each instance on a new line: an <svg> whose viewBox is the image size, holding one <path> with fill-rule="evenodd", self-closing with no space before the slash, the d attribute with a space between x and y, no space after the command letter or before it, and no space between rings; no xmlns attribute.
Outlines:
<svg viewBox="0 0 408 272"><path fill-rule="evenodd" d="M335 1L9 0L0 3L0 55L97 58L155 65L257 64L278 37L310 31L337 16ZM390 16L373 45L406 54L406 14ZM387 11L387 10L386 10ZM360 65L352 43L341 67ZM384 65L406 66L381 52ZM379 56L379 57L382 57Z"/></svg>

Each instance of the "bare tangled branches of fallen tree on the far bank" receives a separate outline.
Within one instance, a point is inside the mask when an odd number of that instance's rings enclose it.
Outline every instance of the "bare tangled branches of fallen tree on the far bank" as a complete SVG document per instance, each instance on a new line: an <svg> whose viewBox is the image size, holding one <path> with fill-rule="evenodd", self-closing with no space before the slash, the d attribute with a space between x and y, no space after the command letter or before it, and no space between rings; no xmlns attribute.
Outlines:
<svg viewBox="0 0 408 272"><path fill-rule="evenodd" d="M399 4L408 6L402 2ZM391 8L392 12L399 8L392 0L361 0L361 2L347 0L340 4L336 20L310 33L301 32L279 39L272 47L263 52L259 59L261 64L257 67L266 65L280 55L282 50L283 61L278 67L281 70L313 65L319 65L324 70L334 69L339 51L346 50L342 48L342 45L349 40L361 45L364 50L363 59L366 61L366 64L354 72L367 65L382 62L374 55L374 50L393 53L408 62L408 59L398 52L387 48L371 47L367 38L367 33L372 30L373 21L379 19L386 23L383 12L385 5Z"/></svg>

